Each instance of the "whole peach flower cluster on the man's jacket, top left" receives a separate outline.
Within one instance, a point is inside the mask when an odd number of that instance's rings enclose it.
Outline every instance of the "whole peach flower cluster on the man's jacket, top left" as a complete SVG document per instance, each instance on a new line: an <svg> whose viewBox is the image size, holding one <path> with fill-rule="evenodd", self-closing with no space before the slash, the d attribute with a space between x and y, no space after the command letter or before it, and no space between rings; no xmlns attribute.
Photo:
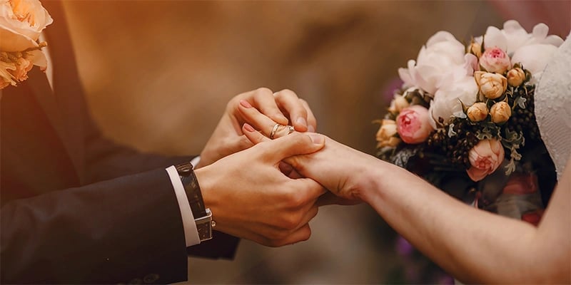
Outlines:
<svg viewBox="0 0 571 285"><path fill-rule="evenodd" d="M46 70L39 37L53 21L39 0L0 0L0 90L25 81L34 66Z"/></svg>

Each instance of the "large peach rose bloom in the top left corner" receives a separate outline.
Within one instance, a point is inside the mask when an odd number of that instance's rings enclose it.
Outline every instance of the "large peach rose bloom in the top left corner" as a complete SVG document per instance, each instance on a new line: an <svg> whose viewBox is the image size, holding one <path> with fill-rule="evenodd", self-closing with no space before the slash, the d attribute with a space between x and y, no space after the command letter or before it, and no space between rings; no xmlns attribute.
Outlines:
<svg viewBox="0 0 571 285"><path fill-rule="evenodd" d="M41 31L53 21L39 0L0 0L0 51L37 47Z"/></svg>

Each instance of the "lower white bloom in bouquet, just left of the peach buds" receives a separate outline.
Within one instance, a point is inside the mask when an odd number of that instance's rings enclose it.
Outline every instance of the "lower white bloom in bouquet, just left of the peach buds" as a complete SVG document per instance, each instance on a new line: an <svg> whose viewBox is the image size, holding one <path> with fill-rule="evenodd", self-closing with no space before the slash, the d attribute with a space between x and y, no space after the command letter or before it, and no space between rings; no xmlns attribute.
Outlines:
<svg viewBox="0 0 571 285"><path fill-rule="evenodd" d="M455 113L463 112L460 101L464 105L473 105L476 102L477 93L478 87L472 76L465 76L459 81L438 89L428 109L430 125L436 129L438 118L443 118L444 123L448 123Z"/></svg>

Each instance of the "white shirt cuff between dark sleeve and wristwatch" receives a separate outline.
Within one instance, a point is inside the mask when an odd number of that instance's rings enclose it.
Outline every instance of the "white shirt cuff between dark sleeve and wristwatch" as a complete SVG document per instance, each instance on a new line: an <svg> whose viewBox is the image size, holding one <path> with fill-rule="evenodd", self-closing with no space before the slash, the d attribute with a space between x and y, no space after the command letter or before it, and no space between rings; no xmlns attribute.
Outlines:
<svg viewBox="0 0 571 285"><path fill-rule="evenodd" d="M186 197L181 177L178 176L178 172L174 166L166 168L166 172L168 173L168 177L171 178L171 183L173 184L174 193L176 195L176 201L178 202L178 209L181 210L186 247L200 244L201 239L198 237L198 229L196 229L196 223L194 222L191 204L188 204L188 198Z"/></svg>

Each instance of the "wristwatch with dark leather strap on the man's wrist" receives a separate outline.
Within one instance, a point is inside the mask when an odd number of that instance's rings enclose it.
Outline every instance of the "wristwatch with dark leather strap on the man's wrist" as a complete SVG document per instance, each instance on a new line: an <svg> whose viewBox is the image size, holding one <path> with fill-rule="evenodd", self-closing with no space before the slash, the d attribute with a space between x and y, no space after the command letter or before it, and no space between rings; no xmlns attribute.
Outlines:
<svg viewBox="0 0 571 285"><path fill-rule="evenodd" d="M188 204L191 205L196 229L198 229L198 237L201 242L212 239L212 228L216 226L216 222L212 219L210 209L204 207L201 187L198 185L191 162L175 165L175 167L178 176L181 177L181 182L183 182Z"/></svg>

